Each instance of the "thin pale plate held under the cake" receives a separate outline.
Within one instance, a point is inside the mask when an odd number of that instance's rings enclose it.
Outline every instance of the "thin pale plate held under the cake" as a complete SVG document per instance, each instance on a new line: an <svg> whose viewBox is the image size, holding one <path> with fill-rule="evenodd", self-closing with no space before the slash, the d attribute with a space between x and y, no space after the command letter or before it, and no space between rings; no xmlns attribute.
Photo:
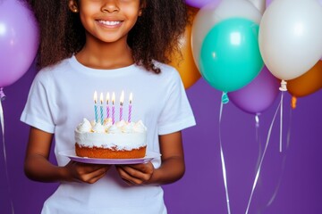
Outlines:
<svg viewBox="0 0 322 214"><path fill-rule="evenodd" d="M59 154L70 158L72 161L94 164L138 164L151 161L161 156L161 154L157 152L147 152L146 156L140 159L96 159L79 157L76 155L75 150L59 152Z"/></svg>

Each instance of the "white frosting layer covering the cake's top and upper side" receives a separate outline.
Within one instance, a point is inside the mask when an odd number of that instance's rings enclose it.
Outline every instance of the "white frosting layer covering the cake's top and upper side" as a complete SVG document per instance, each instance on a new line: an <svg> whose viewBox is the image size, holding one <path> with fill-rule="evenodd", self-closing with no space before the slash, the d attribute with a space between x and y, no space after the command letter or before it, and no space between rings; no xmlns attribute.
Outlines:
<svg viewBox="0 0 322 214"><path fill-rule="evenodd" d="M125 121L112 122L108 119L100 123L90 124L88 119L83 121L75 129L75 141L80 146L103 147L114 150L139 149L147 145L147 128L140 120L137 123Z"/></svg>

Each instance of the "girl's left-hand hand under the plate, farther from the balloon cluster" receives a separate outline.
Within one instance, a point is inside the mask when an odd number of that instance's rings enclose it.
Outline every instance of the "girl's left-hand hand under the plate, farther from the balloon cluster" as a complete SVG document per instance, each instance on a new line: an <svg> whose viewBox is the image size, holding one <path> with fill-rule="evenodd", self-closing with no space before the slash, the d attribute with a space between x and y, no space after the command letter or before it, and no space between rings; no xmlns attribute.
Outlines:
<svg viewBox="0 0 322 214"><path fill-rule="evenodd" d="M106 176L111 165L86 164L70 161L66 169L67 180L94 184L100 178Z"/></svg>

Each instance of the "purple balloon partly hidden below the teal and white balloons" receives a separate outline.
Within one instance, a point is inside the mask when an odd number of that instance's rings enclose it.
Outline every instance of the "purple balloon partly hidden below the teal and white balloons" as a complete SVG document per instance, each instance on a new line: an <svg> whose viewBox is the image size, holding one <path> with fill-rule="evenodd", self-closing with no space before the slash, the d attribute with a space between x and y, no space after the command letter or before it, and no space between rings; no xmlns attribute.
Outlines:
<svg viewBox="0 0 322 214"><path fill-rule="evenodd" d="M279 94L279 80L266 66L249 85L229 93L229 99L242 111L259 114L271 106Z"/></svg>

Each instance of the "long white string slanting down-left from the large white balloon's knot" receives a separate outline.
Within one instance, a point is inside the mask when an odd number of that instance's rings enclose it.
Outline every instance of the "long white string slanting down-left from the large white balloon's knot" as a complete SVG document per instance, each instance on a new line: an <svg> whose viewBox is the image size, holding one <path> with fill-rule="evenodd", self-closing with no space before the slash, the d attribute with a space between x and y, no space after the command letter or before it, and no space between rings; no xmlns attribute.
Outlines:
<svg viewBox="0 0 322 214"><path fill-rule="evenodd" d="M281 102L282 103L282 102ZM249 212L250 210L250 202L252 200L252 196L253 196L253 193L255 191L255 187L256 185L258 184L258 177L259 177L259 173L260 173L260 169L262 168L262 165L263 165L263 161L264 161L264 158L265 158L265 155L266 155L266 152L267 152L267 147L268 147L268 144L269 144L269 139L270 139L270 136L271 136L271 133L272 133L272 128L273 128L273 125L275 123L275 118L276 118L276 115L277 115L277 112L278 112L278 109L281 107L281 103L279 103L279 105L277 106L277 109L275 111L275 115L274 115L274 118L272 119L272 122L270 124L270 127L268 129L268 133L267 133L267 142L265 144L265 149L264 149L264 152L263 152L263 155L260 159L260 162L259 162L259 166L258 166L258 170L256 172L256 176L255 176L255 179L254 179L254 183L252 185L252 188L251 188L251 192L250 192L250 199L249 199L249 202L247 204L247 209L246 209L246 214Z"/></svg>

